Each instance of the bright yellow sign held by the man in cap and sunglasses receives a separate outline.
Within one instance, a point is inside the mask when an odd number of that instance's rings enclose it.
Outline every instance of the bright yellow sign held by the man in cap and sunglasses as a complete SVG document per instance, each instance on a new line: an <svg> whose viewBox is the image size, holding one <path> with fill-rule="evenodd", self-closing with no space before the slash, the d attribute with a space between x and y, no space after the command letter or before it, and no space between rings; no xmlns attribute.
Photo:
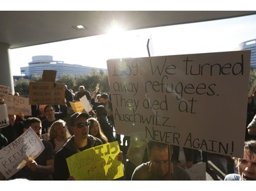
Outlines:
<svg viewBox="0 0 256 191"><path fill-rule="evenodd" d="M89 148L66 158L70 175L76 180L111 180L124 176L123 164L117 160L118 142Z"/></svg>

